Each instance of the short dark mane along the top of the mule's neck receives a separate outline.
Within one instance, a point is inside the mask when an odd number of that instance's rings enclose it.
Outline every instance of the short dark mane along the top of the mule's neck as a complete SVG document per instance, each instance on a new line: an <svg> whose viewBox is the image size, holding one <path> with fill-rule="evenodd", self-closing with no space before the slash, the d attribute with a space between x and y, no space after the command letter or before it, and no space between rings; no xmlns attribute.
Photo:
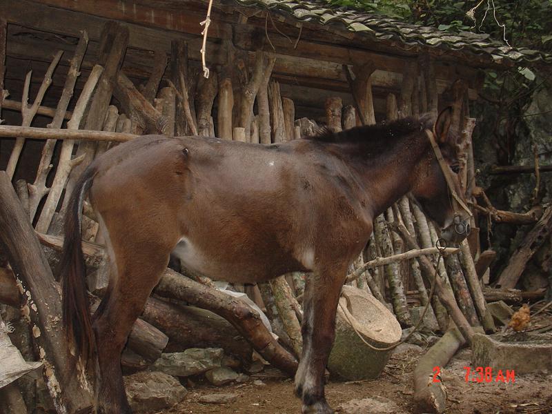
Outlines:
<svg viewBox="0 0 552 414"><path fill-rule="evenodd" d="M431 128L430 115L424 114L421 117L407 117L397 119L396 121L382 121L375 125L357 126L349 130L341 132L333 132L328 128L322 128L316 135L305 137L315 141L327 143L353 143L353 144L369 144L370 146L378 147L389 146L391 142L396 141L399 137L411 135L413 132Z"/></svg>

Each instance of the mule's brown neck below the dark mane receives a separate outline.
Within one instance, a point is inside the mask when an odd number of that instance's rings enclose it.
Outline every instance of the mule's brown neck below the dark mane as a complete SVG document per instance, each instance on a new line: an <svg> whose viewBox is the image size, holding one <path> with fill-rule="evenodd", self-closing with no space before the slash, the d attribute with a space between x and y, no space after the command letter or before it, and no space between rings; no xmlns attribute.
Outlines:
<svg viewBox="0 0 552 414"><path fill-rule="evenodd" d="M354 145L348 148L356 155L351 168L369 197L366 207L373 217L413 190L429 165L431 146L423 133L397 137L380 154L371 154L366 144Z"/></svg>

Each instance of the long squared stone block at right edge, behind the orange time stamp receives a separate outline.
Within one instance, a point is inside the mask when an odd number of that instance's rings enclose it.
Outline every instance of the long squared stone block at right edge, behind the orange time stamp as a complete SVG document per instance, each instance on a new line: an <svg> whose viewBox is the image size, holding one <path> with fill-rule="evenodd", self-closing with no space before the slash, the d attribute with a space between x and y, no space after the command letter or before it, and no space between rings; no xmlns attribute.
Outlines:
<svg viewBox="0 0 552 414"><path fill-rule="evenodd" d="M493 375L502 370L515 374L552 372L552 335L506 333L473 335L473 366L490 366Z"/></svg>

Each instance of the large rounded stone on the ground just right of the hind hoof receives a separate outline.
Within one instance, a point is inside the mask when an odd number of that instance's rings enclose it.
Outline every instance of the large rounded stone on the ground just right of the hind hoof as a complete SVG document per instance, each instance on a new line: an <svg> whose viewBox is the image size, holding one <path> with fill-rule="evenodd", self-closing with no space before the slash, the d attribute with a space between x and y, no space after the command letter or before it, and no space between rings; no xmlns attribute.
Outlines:
<svg viewBox="0 0 552 414"><path fill-rule="evenodd" d="M159 411L181 402L186 388L166 373L142 371L124 377L126 397L134 413Z"/></svg>

